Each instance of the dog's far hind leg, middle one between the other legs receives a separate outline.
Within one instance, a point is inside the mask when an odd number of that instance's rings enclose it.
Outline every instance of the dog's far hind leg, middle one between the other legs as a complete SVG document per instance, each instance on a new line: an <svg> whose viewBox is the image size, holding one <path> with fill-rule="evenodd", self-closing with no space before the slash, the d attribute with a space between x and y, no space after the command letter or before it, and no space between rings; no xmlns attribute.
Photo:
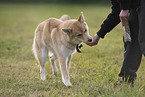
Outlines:
<svg viewBox="0 0 145 97"><path fill-rule="evenodd" d="M58 75L58 69L57 69L57 66L55 64L56 56L51 52L48 53L48 56L49 56L49 60L51 62L53 74L55 76L57 76Z"/></svg>

